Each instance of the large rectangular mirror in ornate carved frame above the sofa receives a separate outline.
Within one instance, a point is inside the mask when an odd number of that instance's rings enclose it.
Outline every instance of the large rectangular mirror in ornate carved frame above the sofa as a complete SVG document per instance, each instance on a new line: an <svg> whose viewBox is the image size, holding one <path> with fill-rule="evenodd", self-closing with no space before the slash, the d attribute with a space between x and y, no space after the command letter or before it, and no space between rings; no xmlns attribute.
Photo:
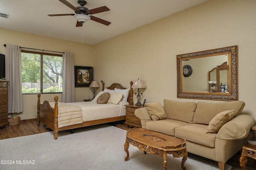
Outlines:
<svg viewBox="0 0 256 170"><path fill-rule="evenodd" d="M177 97L238 100L238 46L177 55ZM193 69L186 75L184 66Z"/></svg>

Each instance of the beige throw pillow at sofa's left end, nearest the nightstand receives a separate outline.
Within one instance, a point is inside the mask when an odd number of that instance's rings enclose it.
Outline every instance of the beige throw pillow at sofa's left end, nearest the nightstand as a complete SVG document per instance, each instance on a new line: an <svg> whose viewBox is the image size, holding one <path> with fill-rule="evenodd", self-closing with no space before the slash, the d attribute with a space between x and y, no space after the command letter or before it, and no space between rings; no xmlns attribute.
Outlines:
<svg viewBox="0 0 256 170"><path fill-rule="evenodd" d="M150 115L153 121L158 121L161 119L167 119L164 107L160 102L156 103L146 103L145 104L148 114Z"/></svg>

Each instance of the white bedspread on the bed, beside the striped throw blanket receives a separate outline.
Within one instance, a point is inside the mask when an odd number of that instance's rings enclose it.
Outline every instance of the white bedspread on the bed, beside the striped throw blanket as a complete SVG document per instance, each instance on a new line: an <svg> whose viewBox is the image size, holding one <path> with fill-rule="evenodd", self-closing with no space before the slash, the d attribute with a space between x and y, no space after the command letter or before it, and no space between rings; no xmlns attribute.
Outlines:
<svg viewBox="0 0 256 170"><path fill-rule="evenodd" d="M128 102L120 102L119 104L97 104L96 102L76 102L69 103L82 108L82 120L92 121L105 119L109 117L118 117L125 115L125 106Z"/></svg>

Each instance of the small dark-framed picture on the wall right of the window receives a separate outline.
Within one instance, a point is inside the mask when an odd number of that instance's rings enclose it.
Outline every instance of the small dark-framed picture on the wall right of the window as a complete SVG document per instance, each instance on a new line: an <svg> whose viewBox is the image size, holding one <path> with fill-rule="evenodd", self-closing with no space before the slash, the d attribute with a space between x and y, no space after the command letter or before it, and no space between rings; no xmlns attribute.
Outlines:
<svg viewBox="0 0 256 170"><path fill-rule="evenodd" d="M89 87L92 81L92 67L75 66L75 87Z"/></svg>

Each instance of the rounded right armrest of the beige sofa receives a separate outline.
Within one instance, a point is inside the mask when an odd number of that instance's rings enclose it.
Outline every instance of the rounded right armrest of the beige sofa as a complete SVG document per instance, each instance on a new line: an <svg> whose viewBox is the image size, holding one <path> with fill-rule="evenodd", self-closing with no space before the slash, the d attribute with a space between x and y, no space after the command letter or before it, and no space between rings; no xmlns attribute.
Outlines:
<svg viewBox="0 0 256 170"><path fill-rule="evenodd" d="M256 121L250 115L240 114L223 125L217 133L218 139L244 139Z"/></svg>

